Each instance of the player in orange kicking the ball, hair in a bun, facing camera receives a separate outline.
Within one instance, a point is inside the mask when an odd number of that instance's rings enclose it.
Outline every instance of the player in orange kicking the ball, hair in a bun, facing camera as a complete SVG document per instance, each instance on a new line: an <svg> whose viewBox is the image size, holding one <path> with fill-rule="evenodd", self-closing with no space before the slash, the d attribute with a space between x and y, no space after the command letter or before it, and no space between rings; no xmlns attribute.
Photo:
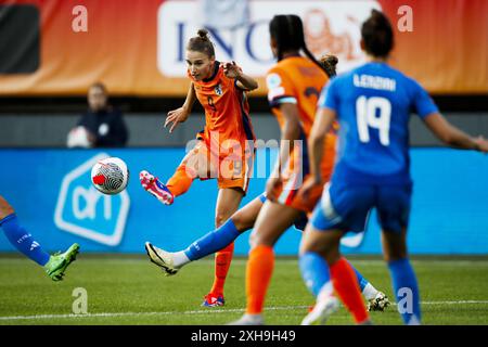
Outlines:
<svg viewBox="0 0 488 347"><path fill-rule="evenodd" d="M208 31L200 29L187 46L188 76L191 80L187 100L182 107L170 111L165 127L171 132L188 119L196 99L205 110L205 129L197 133L197 144L178 166L175 175L162 183L147 171L141 171L142 187L163 204L172 204L174 198L184 194L193 180L217 178L215 224L220 227L235 213L247 191L255 155L255 134L249 117L246 92L258 87L245 75L235 62L216 61L214 44ZM227 147L229 140L233 141ZM222 172L223 168L229 168ZM223 285L232 260L234 244L217 252L215 280L203 306L222 306ZM146 249L150 252L151 249Z"/></svg>

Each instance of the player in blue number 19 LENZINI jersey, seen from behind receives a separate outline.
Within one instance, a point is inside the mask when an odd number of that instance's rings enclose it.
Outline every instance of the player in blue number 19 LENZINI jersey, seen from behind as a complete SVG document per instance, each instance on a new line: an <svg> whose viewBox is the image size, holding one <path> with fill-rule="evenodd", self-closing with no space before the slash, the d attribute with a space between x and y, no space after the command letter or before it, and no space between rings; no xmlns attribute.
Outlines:
<svg viewBox="0 0 488 347"><path fill-rule="evenodd" d="M444 143L488 151L483 137L472 138L450 125L416 81L386 64L393 44L388 18L373 10L361 27L361 48L369 62L334 78L319 101L309 141L314 180L305 183L304 196L323 184L319 168L322 142L334 120L339 121L338 146L334 174L301 239L300 261L310 257L312 261L300 269L307 281L320 282L329 264L332 281L323 284L313 311L304 319L306 324L324 321L334 311L332 287L356 323L370 322L355 272L341 255L339 241L346 231L363 230L371 208L377 210L384 258L401 318L406 324L421 322L419 287L406 243L412 192L408 127L411 110Z"/></svg>

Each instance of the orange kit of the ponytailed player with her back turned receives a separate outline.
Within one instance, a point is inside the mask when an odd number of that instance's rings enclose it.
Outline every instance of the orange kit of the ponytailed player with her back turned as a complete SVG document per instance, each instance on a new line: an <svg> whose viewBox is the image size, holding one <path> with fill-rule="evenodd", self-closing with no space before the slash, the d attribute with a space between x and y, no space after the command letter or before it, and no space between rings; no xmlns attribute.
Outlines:
<svg viewBox="0 0 488 347"><path fill-rule="evenodd" d="M281 103L294 103L298 108L300 121L300 151L293 151L287 165L288 176L284 174L283 187L280 188L279 201L293 207L310 210L314 206L314 195L320 197L320 191L312 193L308 204L299 201L297 191L309 176L307 139L310 136L316 117L317 103L322 88L329 78L323 69L307 57L300 55L288 56L275 64L267 76L268 100L278 118L280 127L283 127L284 117L280 112ZM333 129L324 141L324 159L321 163L322 178L328 181L332 175L335 160L335 130ZM300 170L299 172L297 172ZM299 179L297 179L299 176Z"/></svg>

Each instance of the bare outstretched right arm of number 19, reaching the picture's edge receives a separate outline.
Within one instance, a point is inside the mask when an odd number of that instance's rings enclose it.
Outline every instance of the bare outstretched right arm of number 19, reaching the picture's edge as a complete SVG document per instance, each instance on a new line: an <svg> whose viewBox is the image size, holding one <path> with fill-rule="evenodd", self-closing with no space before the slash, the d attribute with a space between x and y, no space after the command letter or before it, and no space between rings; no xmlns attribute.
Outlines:
<svg viewBox="0 0 488 347"><path fill-rule="evenodd" d="M473 138L464 131L451 125L439 113L433 113L425 117L427 128L447 145L462 149L488 152L488 141L484 137Z"/></svg>

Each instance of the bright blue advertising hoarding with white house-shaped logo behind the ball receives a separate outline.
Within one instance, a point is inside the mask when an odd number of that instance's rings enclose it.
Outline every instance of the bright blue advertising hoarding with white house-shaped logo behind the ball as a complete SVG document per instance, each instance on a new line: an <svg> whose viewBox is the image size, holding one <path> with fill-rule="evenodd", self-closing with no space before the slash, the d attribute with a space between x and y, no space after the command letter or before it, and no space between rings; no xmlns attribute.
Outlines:
<svg viewBox="0 0 488 347"><path fill-rule="evenodd" d="M118 195L103 195L90 182L92 165L104 156L120 157L130 169L128 188ZM214 229L217 182L195 181L187 194L164 206L141 188L139 171L147 169L167 180L183 156L183 149L3 149L0 195L51 252L78 242L87 253L144 253L145 241L178 250ZM274 157L275 151L259 150L255 174L266 176ZM449 149L413 149L411 157L410 253L488 254L488 158ZM265 178L253 178L242 205L265 184ZM248 235L236 241L235 254L247 255ZM300 233L290 229L277 254L295 255L299 239ZM365 233L346 237L344 244L349 245L343 247L346 254L381 254L375 214ZM0 252L14 252L3 235Z"/></svg>

